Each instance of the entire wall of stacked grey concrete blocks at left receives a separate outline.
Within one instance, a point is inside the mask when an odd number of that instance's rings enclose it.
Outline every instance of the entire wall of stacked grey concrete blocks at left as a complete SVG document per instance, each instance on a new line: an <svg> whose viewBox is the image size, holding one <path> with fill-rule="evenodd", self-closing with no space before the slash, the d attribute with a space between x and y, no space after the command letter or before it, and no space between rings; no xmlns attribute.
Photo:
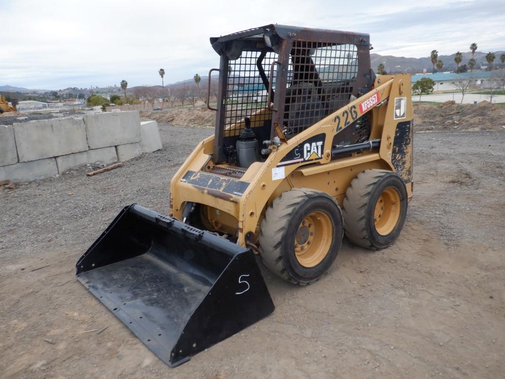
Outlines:
<svg viewBox="0 0 505 379"><path fill-rule="evenodd" d="M42 179L161 148L157 122L140 122L137 111L0 125L0 179Z"/></svg>

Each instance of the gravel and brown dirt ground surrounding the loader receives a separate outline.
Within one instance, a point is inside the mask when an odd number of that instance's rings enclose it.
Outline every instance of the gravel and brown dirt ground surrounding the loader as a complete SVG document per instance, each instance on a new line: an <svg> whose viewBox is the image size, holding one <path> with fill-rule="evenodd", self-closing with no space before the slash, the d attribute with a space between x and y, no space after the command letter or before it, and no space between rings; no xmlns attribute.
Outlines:
<svg viewBox="0 0 505 379"><path fill-rule="evenodd" d="M275 312L171 369L74 269L124 205L166 213L171 176L212 133L160 129L163 150L124 167L0 189L0 377L503 377L505 130L415 133L414 199L394 246L344 239L304 288L263 270Z"/></svg>

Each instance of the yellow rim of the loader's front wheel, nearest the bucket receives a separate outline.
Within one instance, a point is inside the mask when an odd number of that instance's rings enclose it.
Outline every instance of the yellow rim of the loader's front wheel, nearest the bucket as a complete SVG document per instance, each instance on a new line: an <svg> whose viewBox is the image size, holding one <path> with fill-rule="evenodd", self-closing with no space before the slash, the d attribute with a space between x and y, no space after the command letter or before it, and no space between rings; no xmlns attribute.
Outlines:
<svg viewBox="0 0 505 379"><path fill-rule="evenodd" d="M312 212L298 226L294 239L294 253L304 267L317 266L326 257L333 239L333 224L322 211Z"/></svg>

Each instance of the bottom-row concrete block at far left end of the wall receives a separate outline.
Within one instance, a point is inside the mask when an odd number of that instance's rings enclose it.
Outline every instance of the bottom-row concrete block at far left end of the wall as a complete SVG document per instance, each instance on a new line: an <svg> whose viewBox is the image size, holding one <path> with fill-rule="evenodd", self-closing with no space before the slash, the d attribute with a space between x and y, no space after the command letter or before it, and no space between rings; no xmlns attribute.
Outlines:
<svg viewBox="0 0 505 379"><path fill-rule="evenodd" d="M43 179L58 174L55 158L39 159L37 161L16 163L0 167L0 179L13 181L28 181Z"/></svg>

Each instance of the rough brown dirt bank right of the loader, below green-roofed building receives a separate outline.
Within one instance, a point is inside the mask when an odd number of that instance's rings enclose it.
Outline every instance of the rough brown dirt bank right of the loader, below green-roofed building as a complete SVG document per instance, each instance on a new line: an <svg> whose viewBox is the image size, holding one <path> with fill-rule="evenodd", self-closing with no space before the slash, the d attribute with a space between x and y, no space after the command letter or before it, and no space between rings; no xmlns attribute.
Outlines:
<svg viewBox="0 0 505 379"><path fill-rule="evenodd" d="M414 103L415 130L502 130L505 107L483 101L477 104L440 105Z"/></svg>

